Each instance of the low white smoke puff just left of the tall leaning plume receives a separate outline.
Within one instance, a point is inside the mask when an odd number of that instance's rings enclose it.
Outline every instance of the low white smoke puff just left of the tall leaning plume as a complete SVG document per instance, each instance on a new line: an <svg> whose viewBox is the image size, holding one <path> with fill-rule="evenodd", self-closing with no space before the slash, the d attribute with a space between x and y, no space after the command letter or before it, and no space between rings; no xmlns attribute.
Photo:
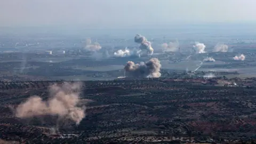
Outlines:
<svg viewBox="0 0 256 144"><path fill-rule="evenodd" d="M129 50L127 47L124 50L118 50L114 52L115 57L130 57L131 55L140 57L141 50L133 49Z"/></svg>

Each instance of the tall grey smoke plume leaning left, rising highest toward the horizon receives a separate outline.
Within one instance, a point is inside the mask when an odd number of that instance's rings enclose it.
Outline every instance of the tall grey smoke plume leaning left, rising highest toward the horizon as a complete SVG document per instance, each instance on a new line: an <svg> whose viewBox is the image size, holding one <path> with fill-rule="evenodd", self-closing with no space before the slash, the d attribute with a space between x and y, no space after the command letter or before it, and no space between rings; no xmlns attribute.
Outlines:
<svg viewBox="0 0 256 144"><path fill-rule="evenodd" d="M134 42L140 44L141 50L147 50L150 55L153 54L154 49L152 48L151 43L146 39L145 36L137 34L134 37Z"/></svg>

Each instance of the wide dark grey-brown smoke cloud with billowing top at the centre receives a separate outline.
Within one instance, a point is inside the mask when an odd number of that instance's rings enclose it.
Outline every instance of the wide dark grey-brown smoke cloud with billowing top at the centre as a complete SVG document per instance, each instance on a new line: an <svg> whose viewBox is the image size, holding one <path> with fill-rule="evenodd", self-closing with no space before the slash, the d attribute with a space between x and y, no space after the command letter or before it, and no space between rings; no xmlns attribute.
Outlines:
<svg viewBox="0 0 256 144"><path fill-rule="evenodd" d="M151 58L149 61L135 64L128 61L124 67L125 75L128 77L160 77L161 63L157 58Z"/></svg>

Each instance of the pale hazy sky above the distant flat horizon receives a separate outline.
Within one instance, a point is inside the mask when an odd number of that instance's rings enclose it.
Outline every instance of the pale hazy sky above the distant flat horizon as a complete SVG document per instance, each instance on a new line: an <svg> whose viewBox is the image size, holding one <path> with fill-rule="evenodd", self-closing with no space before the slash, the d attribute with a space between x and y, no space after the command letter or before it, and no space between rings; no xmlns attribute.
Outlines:
<svg viewBox="0 0 256 144"><path fill-rule="evenodd" d="M0 0L0 26L255 22L255 0Z"/></svg>

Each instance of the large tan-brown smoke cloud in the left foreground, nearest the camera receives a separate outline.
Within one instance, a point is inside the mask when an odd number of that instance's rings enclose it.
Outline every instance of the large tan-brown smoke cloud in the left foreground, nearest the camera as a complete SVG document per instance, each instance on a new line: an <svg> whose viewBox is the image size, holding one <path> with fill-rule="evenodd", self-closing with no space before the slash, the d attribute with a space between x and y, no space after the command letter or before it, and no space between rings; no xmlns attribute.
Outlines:
<svg viewBox="0 0 256 144"><path fill-rule="evenodd" d="M85 117L85 107L78 106L80 90L80 83L54 84L49 87L48 100L44 101L39 96L30 97L17 107L15 115L19 118L52 115L62 121L70 119L79 124Z"/></svg>

